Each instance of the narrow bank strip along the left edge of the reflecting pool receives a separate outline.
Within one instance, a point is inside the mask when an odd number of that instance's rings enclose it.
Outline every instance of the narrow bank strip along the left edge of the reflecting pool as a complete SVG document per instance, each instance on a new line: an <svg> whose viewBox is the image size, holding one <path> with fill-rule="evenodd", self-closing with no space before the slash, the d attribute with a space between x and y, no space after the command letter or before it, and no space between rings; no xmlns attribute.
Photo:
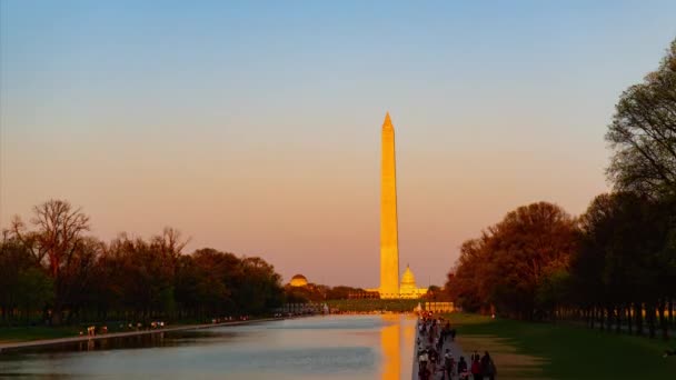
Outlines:
<svg viewBox="0 0 676 380"><path fill-rule="evenodd" d="M98 336L78 336L71 338L54 338L54 339L38 339L38 340L27 340L21 342L9 342L9 343L0 343L0 354L11 350L19 350L23 348L31 347L44 347L44 346L58 346L64 343L76 343L76 342L86 342L91 340L101 340L101 339L110 339L110 338L127 338L127 337L136 337L136 336L147 336L152 333L161 333L161 332L171 332L171 331L185 331L185 330L200 330L208 329L221 326L238 326L238 324L247 324L247 323L256 323L256 322L269 322L277 321L285 318L261 318L261 319L249 319L246 321L227 321L220 323L201 323L201 324L186 324L178 327L170 327L165 329L156 329L156 330L141 330L141 331L125 331L125 332L111 332Z"/></svg>

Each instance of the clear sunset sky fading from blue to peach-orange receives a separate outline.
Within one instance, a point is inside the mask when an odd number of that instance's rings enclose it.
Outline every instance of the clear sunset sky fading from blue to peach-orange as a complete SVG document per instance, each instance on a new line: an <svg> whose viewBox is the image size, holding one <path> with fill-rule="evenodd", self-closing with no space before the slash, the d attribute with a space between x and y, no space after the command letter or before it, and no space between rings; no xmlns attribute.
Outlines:
<svg viewBox="0 0 676 380"><path fill-rule="evenodd" d="M443 284L508 211L608 191L615 103L675 1L0 0L0 228L48 199L92 234L379 282L380 128L399 260Z"/></svg>

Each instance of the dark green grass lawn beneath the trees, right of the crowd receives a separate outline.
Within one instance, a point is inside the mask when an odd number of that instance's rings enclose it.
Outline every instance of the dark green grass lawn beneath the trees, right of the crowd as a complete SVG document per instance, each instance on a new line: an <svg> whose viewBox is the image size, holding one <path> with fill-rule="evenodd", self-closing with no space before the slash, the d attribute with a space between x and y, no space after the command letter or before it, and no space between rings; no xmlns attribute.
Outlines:
<svg viewBox="0 0 676 380"><path fill-rule="evenodd" d="M449 318L465 353L488 350L499 379L676 379L676 357L662 357L676 341L476 314Z"/></svg>

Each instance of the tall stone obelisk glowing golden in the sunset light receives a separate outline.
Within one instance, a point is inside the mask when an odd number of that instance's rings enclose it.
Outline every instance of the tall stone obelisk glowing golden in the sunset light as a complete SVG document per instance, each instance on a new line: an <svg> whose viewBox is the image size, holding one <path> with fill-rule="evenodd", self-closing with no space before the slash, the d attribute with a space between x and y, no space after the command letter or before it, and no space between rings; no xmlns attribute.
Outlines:
<svg viewBox="0 0 676 380"><path fill-rule="evenodd" d="M380 172L380 298L399 297L399 242L397 237L397 172L395 128L389 112L382 122Z"/></svg>

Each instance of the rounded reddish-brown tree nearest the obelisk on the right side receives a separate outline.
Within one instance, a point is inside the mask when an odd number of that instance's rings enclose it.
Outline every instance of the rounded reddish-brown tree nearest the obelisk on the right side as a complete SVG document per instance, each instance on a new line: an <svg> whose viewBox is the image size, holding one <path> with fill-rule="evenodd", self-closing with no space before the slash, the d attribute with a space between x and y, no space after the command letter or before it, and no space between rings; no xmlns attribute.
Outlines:
<svg viewBox="0 0 676 380"><path fill-rule="evenodd" d="M560 207L519 207L463 244L446 288L469 310L543 318L556 303L553 281L566 276L576 239L575 221Z"/></svg>

